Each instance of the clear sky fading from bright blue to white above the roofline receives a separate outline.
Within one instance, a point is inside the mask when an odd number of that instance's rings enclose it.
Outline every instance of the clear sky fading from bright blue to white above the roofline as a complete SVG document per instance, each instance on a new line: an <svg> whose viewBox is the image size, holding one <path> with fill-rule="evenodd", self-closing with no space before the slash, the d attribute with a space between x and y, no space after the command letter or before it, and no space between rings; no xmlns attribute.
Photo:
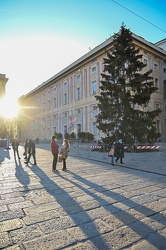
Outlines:
<svg viewBox="0 0 166 250"><path fill-rule="evenodd" d="M0 0L8 103L117 33L122 22L149 42L165 39L165 0Z"/></svg>

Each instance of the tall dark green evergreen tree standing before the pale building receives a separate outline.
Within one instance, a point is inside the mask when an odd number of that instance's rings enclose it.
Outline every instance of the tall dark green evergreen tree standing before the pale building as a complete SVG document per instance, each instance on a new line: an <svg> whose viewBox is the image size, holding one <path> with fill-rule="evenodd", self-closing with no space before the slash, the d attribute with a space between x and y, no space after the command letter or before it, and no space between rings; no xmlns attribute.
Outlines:
<svg viewBox="0 0 166 250"><path fill-rule="evenodd" d="M121 26L114 35L113 48L104 58L104 72L98 100L98 128L109 139L120 137L125 143L153 142L159 137L154 118L160 109L151 111L148 104L154 87L152 70L143 73L146 65L133 44L132 33ZM110 138L111 137L111 138Z"/></svg>

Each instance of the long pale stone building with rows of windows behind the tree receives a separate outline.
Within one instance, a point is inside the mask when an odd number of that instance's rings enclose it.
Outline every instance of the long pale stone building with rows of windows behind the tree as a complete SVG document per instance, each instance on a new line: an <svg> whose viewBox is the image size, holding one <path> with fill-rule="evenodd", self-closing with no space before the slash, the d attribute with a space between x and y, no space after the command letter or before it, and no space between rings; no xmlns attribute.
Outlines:
<svg viewBox="0 0 166 250"><path fill-rule="evenodd" d="M158 91L152 94L149 110L161 108L156 118L160 141L166 141L166 51L133 34L133 43L139 48L146 64L144 71L153 70L154 86ZM97 129L96 94L100 93L100 74L103 72L103 58L113 46L113 37L95 47L77 61L19 98L23 107L20 117L21 137L51 139L55 133L89 132L95 140L105 135ZM162 43L163 46L163 43ZM138 128L139 129L139 128Z"/></svg>

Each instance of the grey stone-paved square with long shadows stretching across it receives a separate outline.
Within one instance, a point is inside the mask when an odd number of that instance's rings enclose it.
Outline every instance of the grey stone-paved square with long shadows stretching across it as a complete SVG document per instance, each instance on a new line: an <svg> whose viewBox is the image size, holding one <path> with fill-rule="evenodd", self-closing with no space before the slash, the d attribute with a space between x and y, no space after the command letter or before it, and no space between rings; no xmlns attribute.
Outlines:
<svg viewBox="0 0 166 250"><path fill-rule="evenodd" d="M166 249L166 152L112 166L72 145L54 173L50 145L36 147L37 166L0 148L0 249Z"/></svg>

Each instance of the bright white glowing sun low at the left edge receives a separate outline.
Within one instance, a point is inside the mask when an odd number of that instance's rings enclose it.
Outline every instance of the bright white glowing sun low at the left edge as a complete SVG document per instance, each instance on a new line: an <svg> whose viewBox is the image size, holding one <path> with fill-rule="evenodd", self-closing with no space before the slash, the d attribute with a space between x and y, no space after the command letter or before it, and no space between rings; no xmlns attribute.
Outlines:
<svg viewBox="0 0 166 250"><path fill-rule="evenodd" d="M16 100L4 97L0 99L0 116L12 119L19 114L19 105Z"/></svg>

